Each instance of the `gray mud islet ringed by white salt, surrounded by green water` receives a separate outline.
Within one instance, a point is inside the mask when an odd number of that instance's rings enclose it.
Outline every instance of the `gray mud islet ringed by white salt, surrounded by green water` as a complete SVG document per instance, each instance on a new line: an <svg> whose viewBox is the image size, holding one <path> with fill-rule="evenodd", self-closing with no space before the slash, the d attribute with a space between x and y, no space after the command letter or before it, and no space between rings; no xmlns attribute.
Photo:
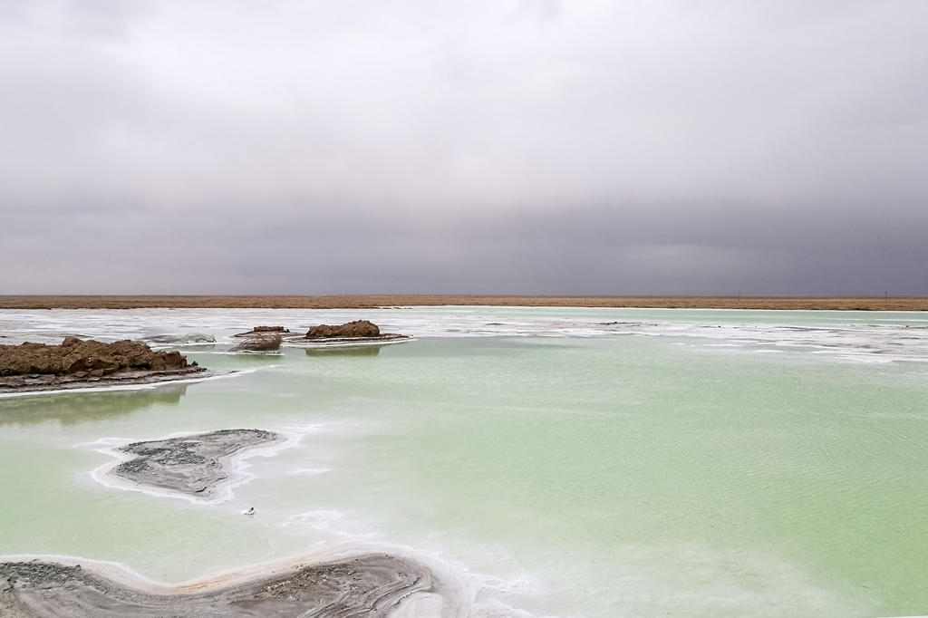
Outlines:
<svg viewBox="0 0 928 618"><path fill-rule="evenodd" d="M233 457L245 449L280 441L283 436L273 431L234 429L136 442L116 449L135 458L110 474L143 486L211 498L229 480Z"/></svg>

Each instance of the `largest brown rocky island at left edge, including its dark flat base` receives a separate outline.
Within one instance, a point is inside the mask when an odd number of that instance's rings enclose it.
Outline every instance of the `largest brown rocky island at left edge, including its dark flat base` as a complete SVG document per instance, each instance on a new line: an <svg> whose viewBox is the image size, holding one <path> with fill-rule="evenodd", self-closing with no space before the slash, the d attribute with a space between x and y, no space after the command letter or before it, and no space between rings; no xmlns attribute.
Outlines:
<svg viewBox="0 0 928 618"><path fill-rule="evenodd" d="M139 341L103 343L67 337L60 345L0 345L0 394L58 391L208 378L179 352L155 352Z"/></svg>

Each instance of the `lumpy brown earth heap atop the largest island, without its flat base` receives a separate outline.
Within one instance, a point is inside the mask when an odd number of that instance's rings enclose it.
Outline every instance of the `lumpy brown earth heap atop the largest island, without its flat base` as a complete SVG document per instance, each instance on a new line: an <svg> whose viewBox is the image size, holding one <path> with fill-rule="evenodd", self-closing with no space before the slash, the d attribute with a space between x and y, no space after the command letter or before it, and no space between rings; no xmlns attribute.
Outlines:
<svg viewBox="0 0 928 618"><path fill-rule="evenodd" d="M119 371L171 371L197 367L179 352L154 352L139 341L82 341L66 338L60 345L0 345L0 377L62 375L102 377Z"/></svg>

